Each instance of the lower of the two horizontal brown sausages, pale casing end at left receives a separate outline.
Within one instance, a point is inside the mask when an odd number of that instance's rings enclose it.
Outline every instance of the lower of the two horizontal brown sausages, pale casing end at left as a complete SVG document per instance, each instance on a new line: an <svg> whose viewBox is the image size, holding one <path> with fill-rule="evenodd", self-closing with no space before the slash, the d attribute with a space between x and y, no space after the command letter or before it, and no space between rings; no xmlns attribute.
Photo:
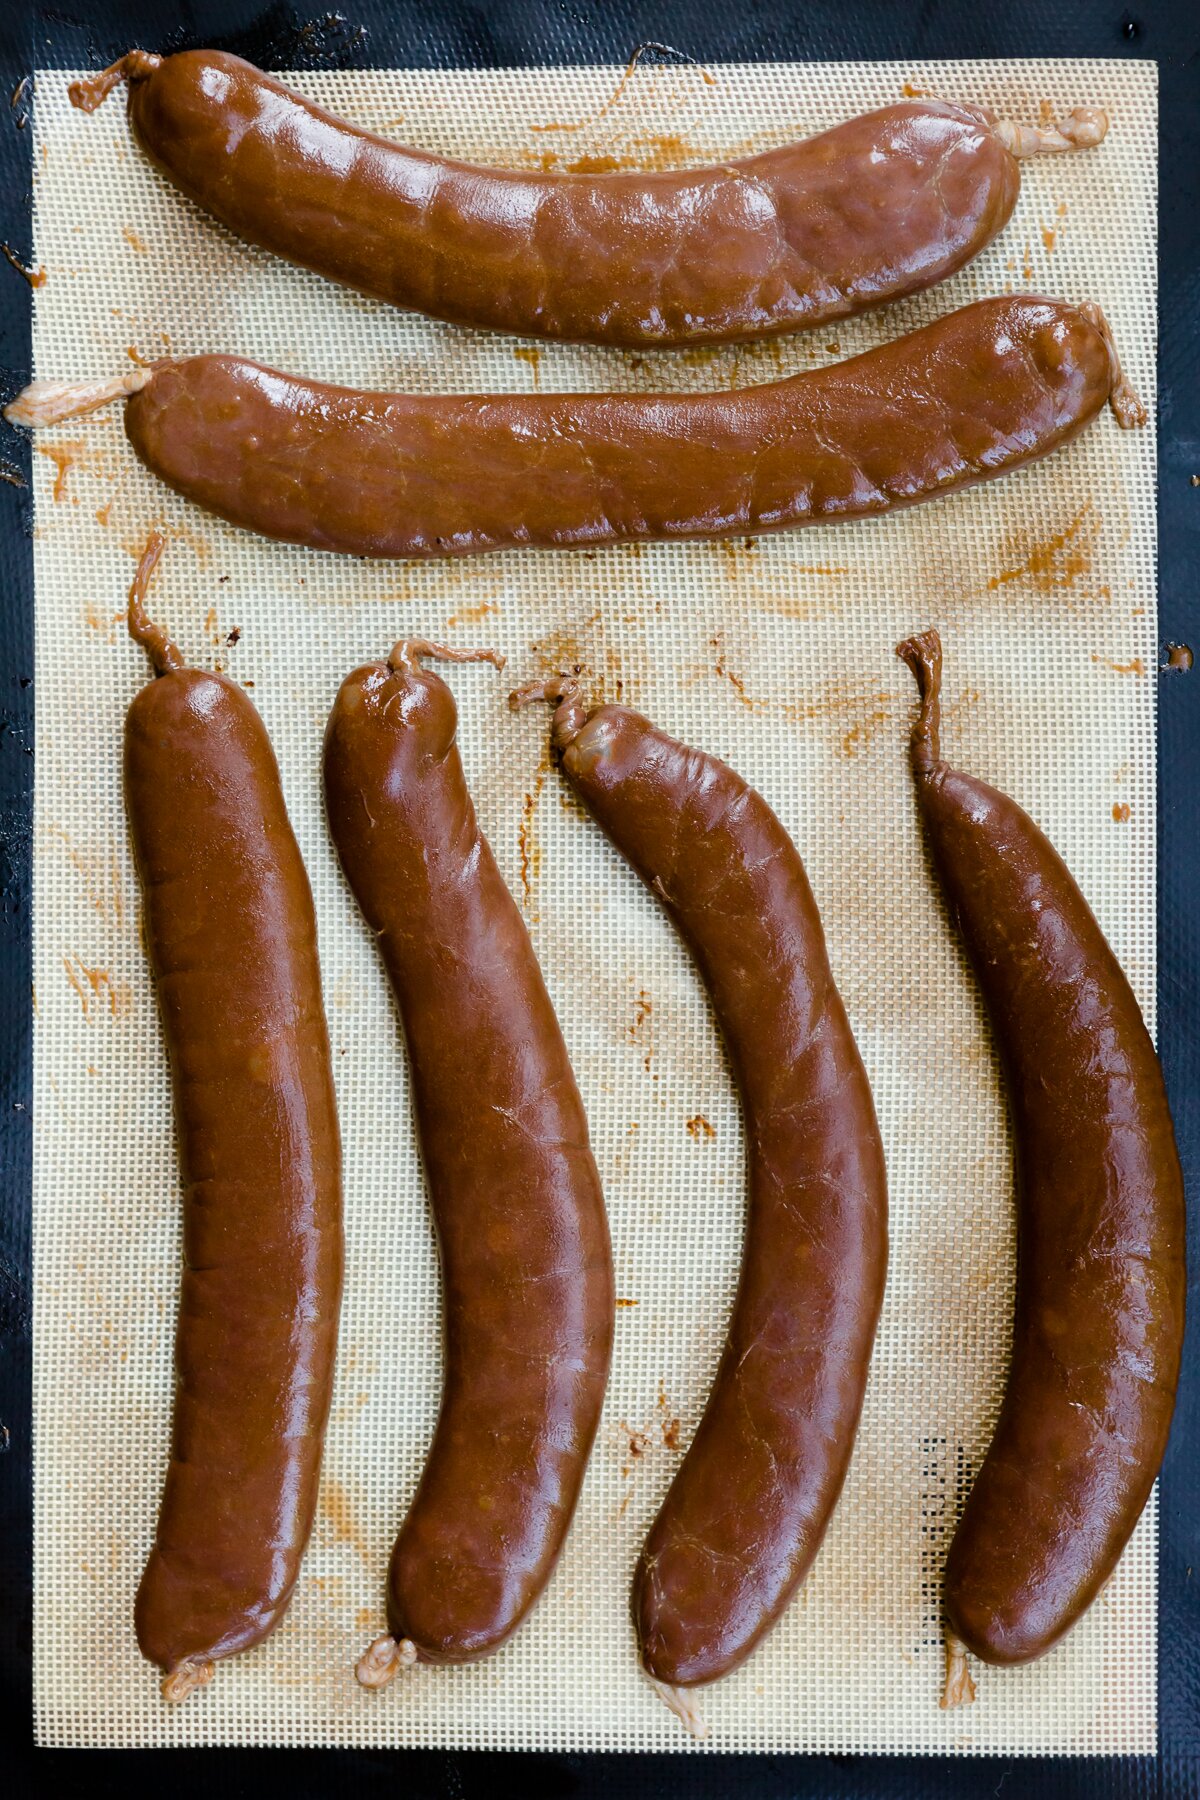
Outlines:
<svg viewBox="0 0 1200 1800"><path fill-rule="evenodd" d="M1106 400L1144 423L1103 315L1007 297L721 394L363 394L191 356L34 383L47 423L128 396L142 463L210 513L354 556L720 538L885 513L1047 455Z"/></svg>

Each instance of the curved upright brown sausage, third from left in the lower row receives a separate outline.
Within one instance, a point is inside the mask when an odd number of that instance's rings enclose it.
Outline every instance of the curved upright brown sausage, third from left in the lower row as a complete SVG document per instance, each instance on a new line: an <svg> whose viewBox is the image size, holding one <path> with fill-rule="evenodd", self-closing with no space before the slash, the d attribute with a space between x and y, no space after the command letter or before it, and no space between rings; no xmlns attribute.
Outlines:
<svg viewBox="0 0 1200 1800"><path fill-rule="evenodd" d="M560 702L570 787L696 959L747 1127L725 1350L633 1579L642 1665L675 1703L750 1654L820 1548L883 1300L883 1145L804 868L766 801L624 706L585 713L570 677L513 704L540 697Z"/></svg>

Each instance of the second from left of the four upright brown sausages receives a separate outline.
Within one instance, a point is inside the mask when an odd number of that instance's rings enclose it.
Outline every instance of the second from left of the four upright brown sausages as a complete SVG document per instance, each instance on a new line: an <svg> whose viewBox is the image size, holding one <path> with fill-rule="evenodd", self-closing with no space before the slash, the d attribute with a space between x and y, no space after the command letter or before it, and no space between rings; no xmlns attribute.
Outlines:
<svg viewBox="0 0 1200 1800"><path fill-rule="evenodd" d="M329 830L408 1044L444 1287L437 1429L363 1687L486 1656L525 1618L579 1496L615 1318L583 1103L428 655L477 653L412 641L354 670L324 749Z"/></svg>

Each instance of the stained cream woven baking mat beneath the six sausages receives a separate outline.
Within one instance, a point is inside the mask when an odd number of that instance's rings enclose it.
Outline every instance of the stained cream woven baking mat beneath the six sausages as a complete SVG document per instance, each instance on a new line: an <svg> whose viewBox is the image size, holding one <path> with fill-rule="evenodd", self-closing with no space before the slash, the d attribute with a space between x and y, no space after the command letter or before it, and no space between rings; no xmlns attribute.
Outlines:
<svg viewBox="0 0 1200 1800"><path fill-rule="evenodd" d="M236 243L135 148L121 99L38 76L36 371L128 351L241 351L363 387L747 385L824 365L999 290L1099 301L1153 414L1150 63L738 65L304 74L353 119L480 162L703 162L783 144L907 88L1036 121L1103 104L1099 151L1025 164L1016 214L957 279L835 329L739 349L529 346L405 317ZM1033 470L882 522L703 545L365 563L266 544L166 491L117 409L36 443L36 1714L47 1744L459 1744L693 1750L639 1676L628 1588L716 1364L743 1231L743 1143L696 976L549 767L509 677L563 662L739 769L792 832L871 1073L892 1260L844 1498L759 1652L703 1694L716 1750L1150 1751L1155 1517L1040 1663L937 1708L939 1570L1000 1397L1013 1280L997 1064L923 857L914 689L892 655L937 623L946 747L1016 796L1155 994L1153 432L1108 414ZM180 1193L164 1044L121 799L148 680L124 594L151 524L155 616L254 688L320 920L345 1138L347 1283L313 1541L291 1611L185 1706L131 1625L167 1453ZM318 796L326 713L401 634L488 643L452 670L484 830L547 974L612 1219L617 1343L554 1580L497 1656L383 1696L353 1665L439 1390L439 1291L396 1019ZM678 1447L676 1447L678 1445Z"/></svg>

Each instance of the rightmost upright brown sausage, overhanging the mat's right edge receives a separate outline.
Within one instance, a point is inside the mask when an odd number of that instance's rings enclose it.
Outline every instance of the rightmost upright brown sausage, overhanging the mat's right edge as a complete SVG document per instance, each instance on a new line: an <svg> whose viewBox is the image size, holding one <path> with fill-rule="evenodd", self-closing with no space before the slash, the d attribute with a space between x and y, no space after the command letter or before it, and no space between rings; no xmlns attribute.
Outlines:
<svg viewBox="0 0 1200 1800"><path fill-rule="evenodd" d="M939 747L941 641L900 644L921 691L918 808L1000 1051L1016 1166L1013 1357L946 1559L946 1703L986 1663L1045 1654L1124 1550L1166 1449L1184 1332L1184 1184L1162 1073L1087 900L1022 808Z"/></svg>

